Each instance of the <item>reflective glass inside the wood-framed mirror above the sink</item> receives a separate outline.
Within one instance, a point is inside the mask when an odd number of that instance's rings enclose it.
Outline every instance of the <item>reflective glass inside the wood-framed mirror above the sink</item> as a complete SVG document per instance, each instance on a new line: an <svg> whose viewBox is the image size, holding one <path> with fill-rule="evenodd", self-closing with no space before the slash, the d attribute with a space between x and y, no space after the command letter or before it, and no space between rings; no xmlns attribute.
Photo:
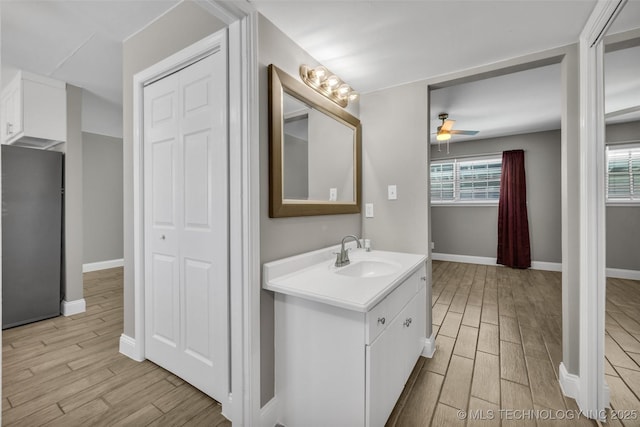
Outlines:
<svg viewBox="0 0 640 427"><path fill-rule="evenodd" d="M286 92L283 111L283 198L353 202L354 130Z"/></svg>

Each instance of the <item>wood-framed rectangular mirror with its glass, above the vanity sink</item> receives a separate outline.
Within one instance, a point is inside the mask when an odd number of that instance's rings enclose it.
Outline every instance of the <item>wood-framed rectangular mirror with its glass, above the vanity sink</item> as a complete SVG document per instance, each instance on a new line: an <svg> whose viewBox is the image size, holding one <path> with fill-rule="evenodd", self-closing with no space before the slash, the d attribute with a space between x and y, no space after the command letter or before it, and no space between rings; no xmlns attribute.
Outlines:
<svg viewBox="0 0 640 427"><path fill-rule="evenodd" d="M360 120L269 65L269 216L360 212Z"/></svg>

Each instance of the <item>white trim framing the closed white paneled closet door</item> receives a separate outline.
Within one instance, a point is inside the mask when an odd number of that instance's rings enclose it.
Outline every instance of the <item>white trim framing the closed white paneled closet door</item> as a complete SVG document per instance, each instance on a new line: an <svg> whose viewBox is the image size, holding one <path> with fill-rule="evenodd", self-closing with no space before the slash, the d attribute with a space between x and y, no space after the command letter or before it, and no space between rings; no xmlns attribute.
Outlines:
<svg viewBox="0 0 640 427"><path fill-rule="evenodd" d="M259 425L260 420L260 282L259 164L257 74L257 14L249 4L199 0L208 13L227 24L229 67L229 209L230 217L230 358L232 393L223 413L234 425ZM210 50L210 36L136 74L133 84L134 191L134 333L122 335L120 352L134 360L145 358L142 89L144 84L182 68Z"/></svg>

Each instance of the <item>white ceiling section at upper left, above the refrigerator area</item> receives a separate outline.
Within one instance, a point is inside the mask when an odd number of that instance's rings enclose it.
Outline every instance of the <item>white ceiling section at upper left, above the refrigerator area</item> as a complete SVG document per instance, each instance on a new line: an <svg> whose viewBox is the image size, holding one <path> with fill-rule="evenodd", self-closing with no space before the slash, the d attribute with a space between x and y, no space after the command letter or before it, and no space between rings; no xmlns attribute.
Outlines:
<svg viewBox="0 0 640 427"><path fill-rule="evenodd" d="M176 3L3 0L2 63L122 105L122 41Z"/></svg>

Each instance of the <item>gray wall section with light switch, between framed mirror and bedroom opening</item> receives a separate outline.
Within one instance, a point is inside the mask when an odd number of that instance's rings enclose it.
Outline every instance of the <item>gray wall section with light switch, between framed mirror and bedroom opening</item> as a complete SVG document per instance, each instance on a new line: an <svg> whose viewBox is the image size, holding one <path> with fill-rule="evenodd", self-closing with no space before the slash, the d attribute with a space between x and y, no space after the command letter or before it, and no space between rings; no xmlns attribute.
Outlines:
<svg viewBox="0 0 640 427"><path fill-rule="evenodd" d="M429 253L427 85L410 83L361 96L363 234L377 249ZM388 185L397 200L387 200Z"/></svg>

